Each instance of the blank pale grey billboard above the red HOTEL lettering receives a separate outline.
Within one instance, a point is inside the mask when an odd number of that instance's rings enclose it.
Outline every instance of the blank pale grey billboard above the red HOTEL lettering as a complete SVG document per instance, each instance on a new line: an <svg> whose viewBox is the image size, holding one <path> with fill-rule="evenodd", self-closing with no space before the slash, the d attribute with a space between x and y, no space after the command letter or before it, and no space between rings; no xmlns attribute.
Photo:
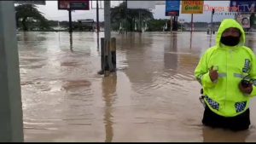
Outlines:
<svg viewBox="0 0 256 144"><path fill-rule="evenodd" d="M155 1L127 1L128 9L154 9Z"/></svg>

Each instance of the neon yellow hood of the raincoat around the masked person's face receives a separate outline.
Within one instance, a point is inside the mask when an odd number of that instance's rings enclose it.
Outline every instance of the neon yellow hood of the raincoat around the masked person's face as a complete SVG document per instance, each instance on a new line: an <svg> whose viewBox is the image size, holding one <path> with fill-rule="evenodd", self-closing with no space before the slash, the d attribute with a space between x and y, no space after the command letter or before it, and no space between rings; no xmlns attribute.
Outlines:
<svg viewBox="0 0 256 144"><path fill-rule="evenodd" d="M243 30L243 28L241 27L241 25L236 21L236 20L233 20L233 19L225 19L221 22L219 28L218 28L218 33L217 33L217 37L216 37L216 44L219 47L221 47L221 42L220 42L220 39L221 39L221 36L222 34L224 33L224 31L228 28L237 28L238 30L240 30L241 32L241 37L240 37L240 45L244 45L245 43L245 32Z"/></svg>

